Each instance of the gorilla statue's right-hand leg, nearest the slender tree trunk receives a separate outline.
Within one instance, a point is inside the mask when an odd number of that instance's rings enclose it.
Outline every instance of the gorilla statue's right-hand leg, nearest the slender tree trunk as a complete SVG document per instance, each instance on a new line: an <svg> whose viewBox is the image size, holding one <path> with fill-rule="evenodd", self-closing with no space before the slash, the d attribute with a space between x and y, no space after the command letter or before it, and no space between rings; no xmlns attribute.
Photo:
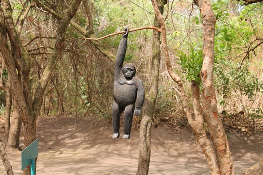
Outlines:
<svg viewBox="0 0 263 175"><path fill-rule="evenodd" d="M127 105L124 110L124 135L122 139L129 139L131 134L134 104Z"/></svg>

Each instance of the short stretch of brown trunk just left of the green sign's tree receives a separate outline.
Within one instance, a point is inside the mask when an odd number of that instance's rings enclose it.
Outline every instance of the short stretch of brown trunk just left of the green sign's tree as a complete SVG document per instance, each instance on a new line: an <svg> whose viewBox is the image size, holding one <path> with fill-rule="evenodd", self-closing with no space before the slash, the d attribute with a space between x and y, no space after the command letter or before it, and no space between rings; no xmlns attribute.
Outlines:
<svg viewBox="0 0 263 175"><path fill-rule="evenodd" d="M8 137L8 149L19 149L19 137L21 129L21 117L18 112L18 106L13 102L12 119Z"/></svg>

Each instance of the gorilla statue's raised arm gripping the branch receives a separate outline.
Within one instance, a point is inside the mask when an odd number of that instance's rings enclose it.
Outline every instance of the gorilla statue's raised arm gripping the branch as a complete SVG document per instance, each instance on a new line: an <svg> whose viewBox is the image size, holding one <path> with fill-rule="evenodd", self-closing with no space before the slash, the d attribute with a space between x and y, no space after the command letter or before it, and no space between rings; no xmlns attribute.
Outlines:
<svg viewBox="0 0 263 175"><path fill-rule="evenodd" d="M123 65L124 57L126 53L126 48L127 48L127 37L129 34L129 29L125 28L124 31L126 31L126 33L122 35L122 39L120 41L117 55L116 55L115 76L114 76L115 79L119 79L119 75L122 74L121 69L122 69L122 65Z"/></svg>

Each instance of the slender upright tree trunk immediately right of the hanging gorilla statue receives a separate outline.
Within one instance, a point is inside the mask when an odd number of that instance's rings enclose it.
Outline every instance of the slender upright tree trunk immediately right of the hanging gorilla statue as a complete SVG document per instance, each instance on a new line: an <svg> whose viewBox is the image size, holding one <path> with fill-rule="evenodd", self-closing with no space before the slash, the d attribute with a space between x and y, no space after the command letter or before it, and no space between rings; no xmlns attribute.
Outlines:
<svg viewBox="0 0 263 175"><path fill-rule="evenodd" d="M163 13L164 5L167 0L158 0L158 6L161 13ZM159 28L160 24L155 16L154 27ZM140 139L139 139L139 161L137 175L147 175L149 172L150 158L151 158L151 127L152 116L155 112L155 103L158 94L159 84L159 69L161 60L161 42L160 32L153 30L152 41L152 64L151 64L151 77L149 77L150 91L146 93L144 101L144 109L142 113L142 120L140 123Z"/></svg>

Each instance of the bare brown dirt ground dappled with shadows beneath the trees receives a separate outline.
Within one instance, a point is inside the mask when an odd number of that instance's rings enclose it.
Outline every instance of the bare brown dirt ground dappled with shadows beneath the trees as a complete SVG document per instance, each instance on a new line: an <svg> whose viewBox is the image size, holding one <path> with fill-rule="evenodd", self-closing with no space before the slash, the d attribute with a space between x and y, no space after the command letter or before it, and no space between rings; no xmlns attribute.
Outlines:
<svg viewBox="0 0 263 175"><path fill-rule="evenodd" d="M4 129L0 129L3 137ZM139 129L132 129L129 140L112 139L111 124L103 119L65 115L39 117L37 132L36 174L136 174ZM262 135L231 131L227 136L236 174L262 159ZM21 152L9 152L8 156L14 174L22 174ZM2 163L0 174L5 174ZM191 131L175 132L162 126L152 129L149 174L203 175L209 174L209 169Z"/></svg>

